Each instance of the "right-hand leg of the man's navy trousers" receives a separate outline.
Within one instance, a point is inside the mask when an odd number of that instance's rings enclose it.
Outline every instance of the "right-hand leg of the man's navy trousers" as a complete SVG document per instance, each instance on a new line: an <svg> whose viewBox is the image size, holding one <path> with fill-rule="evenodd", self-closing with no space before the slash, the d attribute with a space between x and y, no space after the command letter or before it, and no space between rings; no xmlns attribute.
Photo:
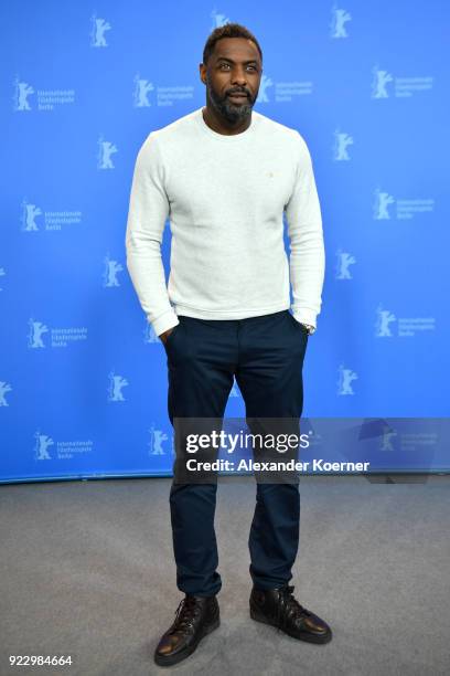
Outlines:
<svg viewBox="0 0 450 676"><path fill-rule="evenodd" d="M250 318L243 324L236 381L248 421L300 419L307 342L308 334L288 311ZM288 426L292 431L291 420ZM257 483L248 539L249 572L255 587L270 589L289 582L299 536L298 483Z"/></svg>

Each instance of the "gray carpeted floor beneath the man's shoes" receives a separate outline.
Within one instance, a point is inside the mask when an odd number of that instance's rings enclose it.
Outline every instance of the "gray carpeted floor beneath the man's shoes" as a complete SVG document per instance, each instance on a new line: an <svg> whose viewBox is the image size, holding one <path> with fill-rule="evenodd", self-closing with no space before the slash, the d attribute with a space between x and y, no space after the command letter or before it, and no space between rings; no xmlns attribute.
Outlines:
<svg viewBox="0 0 450 676"><path fill-rule="evenodd" d="M182 598L171 479L0 487L0 674L424 676L450 670L450 478L302 477L298 600L334 631L317 646L248 615L250 477L219 479L221 627L172 669L152 662ZM9 655L72 655L11 668Z"/></svg>

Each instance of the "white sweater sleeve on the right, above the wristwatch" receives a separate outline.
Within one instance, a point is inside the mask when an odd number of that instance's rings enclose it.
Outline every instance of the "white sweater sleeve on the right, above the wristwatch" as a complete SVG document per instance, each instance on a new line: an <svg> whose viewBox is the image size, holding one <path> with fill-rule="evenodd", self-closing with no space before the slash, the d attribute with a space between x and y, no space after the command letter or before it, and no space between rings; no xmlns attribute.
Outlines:
<svg viewBox="0 0 450 676"><path fill-rule="evenodd" d="M325 272L322 216L308 146L297 130L296 138L299 148L296 183L285 207L290 240L292 314L298 321L315 327Z"/></svg>

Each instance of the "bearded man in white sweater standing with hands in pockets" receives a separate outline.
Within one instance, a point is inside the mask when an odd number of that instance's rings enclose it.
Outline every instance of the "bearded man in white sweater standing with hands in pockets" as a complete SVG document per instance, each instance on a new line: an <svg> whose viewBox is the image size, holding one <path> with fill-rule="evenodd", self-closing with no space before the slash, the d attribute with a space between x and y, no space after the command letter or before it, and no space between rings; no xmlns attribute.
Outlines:
<svg viewBox="0 0 450 676"><path fill-rule="evenodd" d="M324 276L321 211L303 138L253 112L261 72L260 46L246 28L214 30L200 64L206 106L152 131L137 157L127 267L164 345L172 425L175 418L221 420L234 378L247 416L301 415L302 363ZM168 218L167 287L161 242ZM216 487L171 486L176 584L185 596L156 649L161 666L184 659L219 625ZM301 606L288 584L299 515L298 484L257 484L248 540L250 616L325 643L329 625Z"/></svg>

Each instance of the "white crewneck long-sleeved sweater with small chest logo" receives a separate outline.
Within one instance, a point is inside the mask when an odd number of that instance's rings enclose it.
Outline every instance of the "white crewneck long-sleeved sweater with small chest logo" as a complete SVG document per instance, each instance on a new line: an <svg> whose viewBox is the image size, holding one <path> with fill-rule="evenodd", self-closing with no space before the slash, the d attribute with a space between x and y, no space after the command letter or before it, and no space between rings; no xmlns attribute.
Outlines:
<svg viewBox="0 0 450 676"><path fill-rule="evenodd" d="M167 286L161 243L168 219ZM304 139L255 110L250 126L231 136L211 129L202 108L151 131L136 159L126 252L157 336L176 326L178 315L244 319L288 309L289 284L293 317L315 326L325 256Z"/></svg>

